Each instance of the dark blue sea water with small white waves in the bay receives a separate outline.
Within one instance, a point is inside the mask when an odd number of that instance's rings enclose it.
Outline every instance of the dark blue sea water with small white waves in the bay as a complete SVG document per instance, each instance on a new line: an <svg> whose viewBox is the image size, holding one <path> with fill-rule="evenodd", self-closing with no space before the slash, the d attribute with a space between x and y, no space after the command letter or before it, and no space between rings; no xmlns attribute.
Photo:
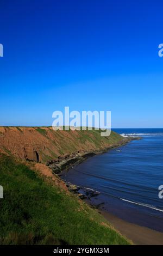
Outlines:
<svg viewBox="0 0 163 256"><path fill-rule="evenodd" d="M62 176L99 192L90 198L123 220L163 231L163 129L113 129L141 140L93 156Z"/></svg>

